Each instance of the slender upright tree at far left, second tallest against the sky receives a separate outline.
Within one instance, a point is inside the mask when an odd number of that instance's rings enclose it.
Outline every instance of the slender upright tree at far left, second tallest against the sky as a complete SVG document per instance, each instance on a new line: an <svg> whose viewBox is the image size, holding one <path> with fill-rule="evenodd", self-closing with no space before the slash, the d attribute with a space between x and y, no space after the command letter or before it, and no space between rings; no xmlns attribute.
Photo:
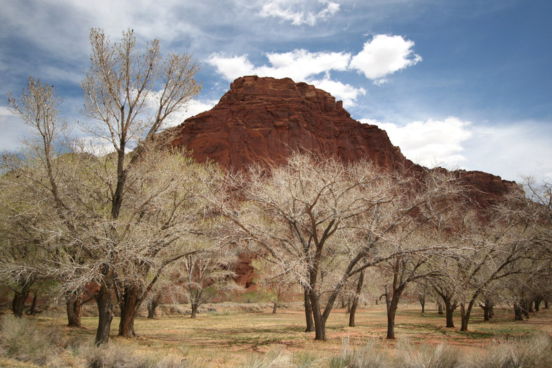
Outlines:
<svg viewBox="0 0 552 368"><path fill-rule="evenodd" d="M79 214L75 212L69 198L75 192L70 180L75 174L75 165L73 158L66 153L68 147L65 136L68 127L59 116L60 104L61 99L55 88L32 76L21 96L8 94L10 110L28 126L30 136L23 141L19 154L4 154L1 160L3 170L9 172L4 176L6 180L3 185L10 187L3 193L11 193L11 198L4 201L7 212L11 212L10 218L6 218L3 223L11 227L11 244L19 244L21 251L25 243L27 255L30 247L34 248L33 252L42 252L42 263L48 260L55 263L60 254L79 263L81 255L72 241L72 238L76 238ZM17 198L15 202L14 198ZM52 230L54 224L66 228L66 233L71 235L61 236L59 231ZM5 230L8 231L8 228ZM30 269L32 264L37 265L30 261L26 263L26 269ZM37 265L32 273L34 276L27 276L24 285L28 285L43 270L44 267ZM60 278L61 275L55 277ZM78 289L66 295L70 326L80 326L80 295Z"/></svg>

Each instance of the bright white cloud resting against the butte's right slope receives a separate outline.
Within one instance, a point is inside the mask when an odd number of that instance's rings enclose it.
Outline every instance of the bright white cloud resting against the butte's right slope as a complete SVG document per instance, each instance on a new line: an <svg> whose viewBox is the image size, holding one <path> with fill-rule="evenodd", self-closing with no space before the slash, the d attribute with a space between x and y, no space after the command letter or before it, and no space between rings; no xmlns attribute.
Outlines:
<svg viewBox="0 0 552 368"><path fill-rule="evenodd" d="M463 143L473 136L471 122L455 117L414 121L403 126L371 119L361 119L361 122L386 130L393 145L398 145L406 158L429 167L457 167L464 163Z"/></svg>

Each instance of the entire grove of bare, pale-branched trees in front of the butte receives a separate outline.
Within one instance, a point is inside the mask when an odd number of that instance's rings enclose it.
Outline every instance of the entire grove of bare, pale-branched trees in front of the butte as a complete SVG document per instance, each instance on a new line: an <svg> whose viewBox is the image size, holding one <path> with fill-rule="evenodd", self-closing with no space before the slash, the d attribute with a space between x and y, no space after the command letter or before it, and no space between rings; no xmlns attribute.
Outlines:
<svg viewBox="0 0 552 368"><path fill-rule="evenodd" d="M216 292L239 289L241 252L256 255L274 311L286 289L302 291L317 340L339 300L350 300L355 325L366 284L386 305L387 338L408 288L442 301L446 327L459 308L463 331L474 307L491 318L493 305L511 305L517 319L548 306L552 185L527 179L483 206L461 174L441 169L413 174L315 152L241 172L199 164L158 134L201 90L192 58L164 57L157 41L140 50L132 31L112 43L92 29L90 44L79 126L102 145L68 138L51 85L30 77L8 96L32 132L0 162L0 281L15 315L48 289L71 326L94 298L98 345L108 343L114 305L118 334L134 336L139 307L152 317L175 289L192 317Z"/></svg>

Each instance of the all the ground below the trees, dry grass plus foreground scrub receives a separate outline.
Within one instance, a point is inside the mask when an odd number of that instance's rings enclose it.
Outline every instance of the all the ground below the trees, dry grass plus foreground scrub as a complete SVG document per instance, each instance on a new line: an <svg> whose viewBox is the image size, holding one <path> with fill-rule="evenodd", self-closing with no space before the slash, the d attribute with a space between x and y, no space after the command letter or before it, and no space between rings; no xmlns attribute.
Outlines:
<svg viewBox="0 0 552 368"><path fill-rule="evenodd" d="M324 343L308 340L303 331L295 331L293 325L300 324L300 319L293 310L274 316L269 313L270 306L264 307L263 313L209 314L194 321L166 317L152 323L141 318L137 324L145 331L144 336L112 339L109 345L102 347L93 343L92 331L87 327L63 330L56 326L60 323L60 316L17 318L6 314L1 318L0 325L0 367L552 366L550 331L540 328L540 324L549 323L546 319L550 318L549 311L536 315L533 325L520 325L513 322L511 316L505 320L500 310L493 323L477 324L477 331L473 332L447 331L441 335L442 342L437 343L435 336L439 336L440 331L433 325L437 315L435 310L420 316L419 310L407 309L400 317L404 324L397 327L401 331L404 329L404 337L390 344L376 335L357 335L356 329L339 327L339 320L328 323L328 329L333 334L339 334L339 338ZM358 319L362 324L371 320L371 326L365 327L366 330L382 328L384 311L364 309L359 311ZM83 318L83 324L92 327L94 320ZM426 320L426 323L420 323L420 320ZM199 326L190 329L186 323L199 323ZM211 328L208 329L208 326ZM484 326L486 331L491 332L481 333L485 331ZM240 329L246 331L240 333ZM273 330L278 334L270 332ZM209 343L210 334L219 338L216 346Z"/></svg>

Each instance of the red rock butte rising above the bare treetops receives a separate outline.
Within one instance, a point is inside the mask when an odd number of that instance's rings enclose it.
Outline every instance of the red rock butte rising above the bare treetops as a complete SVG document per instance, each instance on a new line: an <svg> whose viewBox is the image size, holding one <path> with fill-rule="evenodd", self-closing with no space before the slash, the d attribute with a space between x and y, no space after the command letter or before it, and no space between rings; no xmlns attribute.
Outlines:
<svg viewBox="0 0 552 368"><path fill-rule="evenodd" d="M380 167L421 173L387 133L359 123L328 92L292 79L243 76L209 111L164 132L173 147L186 146L193 157L226 168L251 163L284 163L291 152L309 150L346 162L368 159ZM454 172L481 205L500 198L516 184L484 172Z"/></svg>

